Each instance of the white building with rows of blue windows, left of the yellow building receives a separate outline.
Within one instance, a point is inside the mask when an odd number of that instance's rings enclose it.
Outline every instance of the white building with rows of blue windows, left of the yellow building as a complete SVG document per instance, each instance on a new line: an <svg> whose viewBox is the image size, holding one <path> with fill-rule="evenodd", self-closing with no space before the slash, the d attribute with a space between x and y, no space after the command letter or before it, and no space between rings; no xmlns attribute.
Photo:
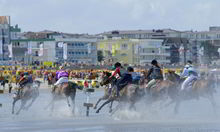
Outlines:
<svg viewBox="0 0 220 132"><path fill-rule="evenodd" d="M97 39L90 38L56 38L54 59L57 62L97 64ZM59 45L61 44L61 45ZM64 50L66 45L66 51ZM66 58L63 59L66 52Z"/></svg>

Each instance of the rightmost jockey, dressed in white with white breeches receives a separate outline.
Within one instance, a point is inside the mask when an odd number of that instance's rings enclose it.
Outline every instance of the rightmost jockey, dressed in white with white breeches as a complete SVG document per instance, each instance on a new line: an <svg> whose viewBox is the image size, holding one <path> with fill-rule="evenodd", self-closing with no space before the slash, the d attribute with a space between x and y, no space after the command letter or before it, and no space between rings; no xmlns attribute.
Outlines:
<svg viewBox="0 0 220 132"><path fill-rule="evenodd" d="M191 62L191 61L189 61ZM181 86L181 91L185 90L186 87L192 83L193 81L196 81L198 79L198 73L196 71L196 69L192 66L192 62L191 62L191 66L187 69L187 78L186 80L183 82L182 86Z"/></svg>

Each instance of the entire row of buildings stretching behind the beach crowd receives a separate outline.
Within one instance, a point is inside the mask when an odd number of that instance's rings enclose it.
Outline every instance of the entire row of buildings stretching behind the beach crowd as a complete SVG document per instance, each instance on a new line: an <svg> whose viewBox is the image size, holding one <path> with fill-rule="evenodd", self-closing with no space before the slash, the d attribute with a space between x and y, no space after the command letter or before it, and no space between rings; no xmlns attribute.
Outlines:
<svg viewBox="0 0 220 132"><path fill-rule="evenodd" d="M18 25L11 26L10 17L0 16L0 60L28 64L35 61L85 64L119 61L144 65L152 59L163 64L184 64L186 60L207 64L219 59L219 40L220 27L210 27L205 32L115 30L96 35L47 30L21 32ZM103 56L103 60L98 56Z"/></svg>

